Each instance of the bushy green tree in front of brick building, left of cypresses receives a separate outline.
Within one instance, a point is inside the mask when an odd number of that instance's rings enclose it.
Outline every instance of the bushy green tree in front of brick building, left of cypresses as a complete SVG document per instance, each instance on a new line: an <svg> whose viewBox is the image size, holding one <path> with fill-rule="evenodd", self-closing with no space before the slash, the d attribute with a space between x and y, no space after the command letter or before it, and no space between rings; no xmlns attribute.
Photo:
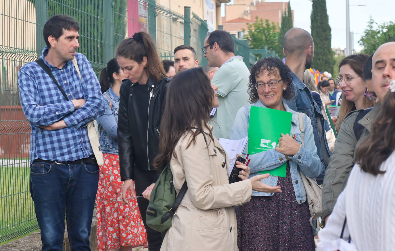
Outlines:
<svg viewBox="0 0 395 251"><path fill-rule="evenodd" d="M248 33L244 36L250 43L252 49L263 49L267 46L269 50L277 48L278 40L278 23L270 22L268 19L259 19L255 17L255 22L247 23ZM243 29L245 32L245 29Z"/></svg>

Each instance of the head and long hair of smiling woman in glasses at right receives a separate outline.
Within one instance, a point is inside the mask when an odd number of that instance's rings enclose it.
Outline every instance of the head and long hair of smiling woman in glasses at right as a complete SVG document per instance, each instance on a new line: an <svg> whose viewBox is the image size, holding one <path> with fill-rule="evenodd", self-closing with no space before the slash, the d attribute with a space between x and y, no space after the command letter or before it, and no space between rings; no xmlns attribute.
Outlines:
<svg viewBox="0 0 395 251"><path fill-rule="evenodd" d="M363 80L363 68L369 55L357 54L343 58L339 64L339 76L336 83L342 88L342 104L336 131L339 132L346 115L354 110L366 109L374 106L374 102L365 95L366 84Z"/></svg>

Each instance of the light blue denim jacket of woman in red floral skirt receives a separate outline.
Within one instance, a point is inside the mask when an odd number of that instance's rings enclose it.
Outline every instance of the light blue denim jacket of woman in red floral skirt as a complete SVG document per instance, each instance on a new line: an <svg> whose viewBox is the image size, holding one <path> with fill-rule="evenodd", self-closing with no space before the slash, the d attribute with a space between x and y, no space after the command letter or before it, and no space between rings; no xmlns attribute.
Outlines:
<svg viewBox="0 0 395 251"><path fill-rule="evenodd" d="M103 100L105 103L104 115L97 119L99 126L98 130L100 132L100 147L102 147L102 152L118 154L118 112L119 112L119 96L110 87L108 91L103 93ZM108 99L111 100L110 103Z"/></svg>

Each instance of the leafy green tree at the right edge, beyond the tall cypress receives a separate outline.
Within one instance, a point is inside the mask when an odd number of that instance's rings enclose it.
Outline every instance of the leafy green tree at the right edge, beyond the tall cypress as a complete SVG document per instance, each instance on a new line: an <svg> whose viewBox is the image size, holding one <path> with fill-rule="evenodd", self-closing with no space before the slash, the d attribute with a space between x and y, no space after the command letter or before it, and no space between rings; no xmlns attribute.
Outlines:
<svg viewBox="0 0 395 251"><path fill-rule="evenodd" d="M384 22L379 25L370 17L368 27L358 43L363 46L362 53L371 55L377 50L378 46L391 41L395 41L395 23Z"/></svg>

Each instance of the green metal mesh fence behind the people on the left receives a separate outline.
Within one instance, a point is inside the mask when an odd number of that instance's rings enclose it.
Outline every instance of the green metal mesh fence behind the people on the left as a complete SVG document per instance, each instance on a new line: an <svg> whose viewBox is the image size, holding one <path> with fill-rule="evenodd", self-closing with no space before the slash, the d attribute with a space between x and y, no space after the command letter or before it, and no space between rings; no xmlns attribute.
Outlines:
<svg viewBox="0 0 395 251"><path fill-rule="evenodd" d="M17 74L36 60L45 42L43 25L56 14L80 24L80 48L96 74L122 39L149 32L162 59L191 45L199 61L207 24L185 7L176 13L154 0L13 0L0 2L0 244L38 229L29 192L30 125L19 103ZM187 24L187 25L184 25ZM202 60L204 59L204 60Z"/></svg>

